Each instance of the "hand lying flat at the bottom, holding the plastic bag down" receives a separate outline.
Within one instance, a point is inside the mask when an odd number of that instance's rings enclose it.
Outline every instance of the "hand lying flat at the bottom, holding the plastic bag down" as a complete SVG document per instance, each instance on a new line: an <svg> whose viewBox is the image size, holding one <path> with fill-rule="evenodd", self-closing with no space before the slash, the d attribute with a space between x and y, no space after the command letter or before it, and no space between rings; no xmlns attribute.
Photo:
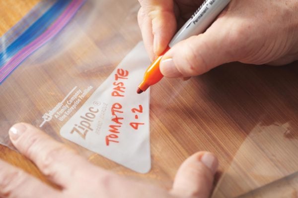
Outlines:
<svg viewBox="0 0 298 198"><path fill-rule="evenodd" d="M218 166L217 158L209 152L193 154L180 166L168 192L99 168L29 124L15 124L9 137L61 189L0 160L3 198L207 198Z"/></svg>

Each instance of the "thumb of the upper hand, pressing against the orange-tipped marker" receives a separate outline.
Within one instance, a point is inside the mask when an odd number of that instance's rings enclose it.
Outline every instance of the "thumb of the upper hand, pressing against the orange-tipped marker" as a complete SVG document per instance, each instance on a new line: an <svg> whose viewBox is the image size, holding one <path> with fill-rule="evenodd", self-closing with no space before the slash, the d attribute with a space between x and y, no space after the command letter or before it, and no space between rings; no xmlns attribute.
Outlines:
<svg viewBox="0 0 298 198"><path fill-rule="evenodd" d="M161 73L169 78L196 76L233 61L234 53L229 52L226 32L218 28L213 27L169 49L161 59Z"/></svg>

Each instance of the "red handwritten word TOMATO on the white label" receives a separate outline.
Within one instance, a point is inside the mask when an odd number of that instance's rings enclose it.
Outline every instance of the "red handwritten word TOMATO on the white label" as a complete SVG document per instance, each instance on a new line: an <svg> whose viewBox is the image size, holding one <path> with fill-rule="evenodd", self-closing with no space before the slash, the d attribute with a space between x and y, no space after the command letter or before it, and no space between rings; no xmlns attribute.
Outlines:
<svg viewBox="0 0 298 198"><path fill-rule="evenodd" d="M106 136L106 146L109 146L110 142L119 143L119 141L117 141L117 134L120 134L119 128L122 126L121 120L124 119L123 117L120 117L120 115L123 113L121 109L122 105L118 102L114 103L111 107L111 113L113 116L111 120L114 122L114 124L109 126L109 132L111 132L111 134Z"/></svg>

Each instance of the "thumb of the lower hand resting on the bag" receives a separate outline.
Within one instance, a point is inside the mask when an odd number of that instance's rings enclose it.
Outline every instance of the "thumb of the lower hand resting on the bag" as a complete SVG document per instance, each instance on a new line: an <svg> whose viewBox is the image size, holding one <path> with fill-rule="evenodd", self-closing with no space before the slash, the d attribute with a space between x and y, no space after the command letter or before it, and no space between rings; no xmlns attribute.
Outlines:
<svg viewBox="0 0 298 198"><path fill-rule="evenodd" d="M210 152L201 151L187 158L180 166L171 194L187 198L210 196L218 159Z"/></svg>

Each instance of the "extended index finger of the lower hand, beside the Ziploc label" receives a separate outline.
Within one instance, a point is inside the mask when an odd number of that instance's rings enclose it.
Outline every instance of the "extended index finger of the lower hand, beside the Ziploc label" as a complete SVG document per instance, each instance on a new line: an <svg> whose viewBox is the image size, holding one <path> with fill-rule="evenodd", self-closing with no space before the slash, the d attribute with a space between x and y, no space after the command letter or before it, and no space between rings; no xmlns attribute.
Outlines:
<svg viewBox="0 0 298 198"><path fill-rule="evenodd" d="M12 144L53 182L66 188L74 181L80 181L86 171L93 171L99 177L106 171L95 167L73 149L52 139L48 134L30 124L18 123L9 130Z"/></svg>

